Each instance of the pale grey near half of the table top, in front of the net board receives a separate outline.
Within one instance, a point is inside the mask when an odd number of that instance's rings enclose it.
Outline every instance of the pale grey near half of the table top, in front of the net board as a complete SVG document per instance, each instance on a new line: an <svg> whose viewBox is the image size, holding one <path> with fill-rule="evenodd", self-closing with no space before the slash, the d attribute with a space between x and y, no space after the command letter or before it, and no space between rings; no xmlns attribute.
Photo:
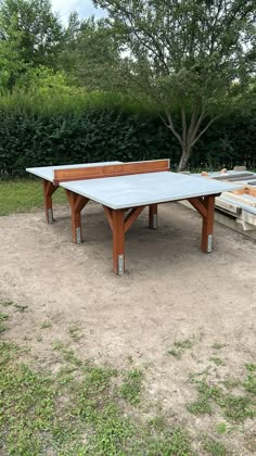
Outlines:
<svg viewBox="0 0 256 456"><path fill-rule="evenodd" d="M206 197L241 186L162 172L61 182L61 187L114 210Z"/></svg>

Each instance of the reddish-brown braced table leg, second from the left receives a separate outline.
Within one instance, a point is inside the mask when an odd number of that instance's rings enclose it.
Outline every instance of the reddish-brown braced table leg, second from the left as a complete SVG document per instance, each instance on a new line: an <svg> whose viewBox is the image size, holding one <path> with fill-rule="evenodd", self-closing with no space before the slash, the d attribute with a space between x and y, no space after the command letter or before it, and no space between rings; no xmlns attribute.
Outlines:
<svg viewBox="0 0 256 456"><path fill-rule="evenodd" d="M66 190L72 212L72 239L76 244L81 243L81 210L89 202L88 198Z"/></svg>

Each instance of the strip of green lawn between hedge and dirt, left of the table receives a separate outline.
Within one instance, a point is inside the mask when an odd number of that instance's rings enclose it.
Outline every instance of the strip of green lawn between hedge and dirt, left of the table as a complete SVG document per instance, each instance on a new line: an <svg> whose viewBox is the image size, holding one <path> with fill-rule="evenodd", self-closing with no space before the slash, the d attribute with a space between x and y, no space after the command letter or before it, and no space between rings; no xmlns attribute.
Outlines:
<svg viewBox="0 0 256 456"><path fill-rule="evenodd" d="M42 185L39 180L2 180L0 181L0 216L43 207ZM56 203L66 202L63 189L57 189L53 194L53 201Z"/></svg>

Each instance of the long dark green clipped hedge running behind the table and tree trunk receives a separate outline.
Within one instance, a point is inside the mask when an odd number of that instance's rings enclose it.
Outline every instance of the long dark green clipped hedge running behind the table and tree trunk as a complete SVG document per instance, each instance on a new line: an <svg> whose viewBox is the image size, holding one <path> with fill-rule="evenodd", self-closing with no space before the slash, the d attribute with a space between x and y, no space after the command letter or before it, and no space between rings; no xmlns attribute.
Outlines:
<svg viewBox="0 0 256 456"><path fill-rule="evenodd" d="M67 107L40 112L31 105L0 105L1 176L22 176L30 166L84 162L170 157L172 168L179 162L179 144L155 114L110 104L79 113ZM256 167L255 140L254 116L219 119L194 148L190 167Z"/></svg>

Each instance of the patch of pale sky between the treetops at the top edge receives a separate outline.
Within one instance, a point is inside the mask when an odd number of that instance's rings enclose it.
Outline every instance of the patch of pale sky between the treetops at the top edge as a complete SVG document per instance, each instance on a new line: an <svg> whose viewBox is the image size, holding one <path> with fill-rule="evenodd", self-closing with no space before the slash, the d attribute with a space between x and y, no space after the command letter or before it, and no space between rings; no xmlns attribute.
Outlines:
<svg viewBox="0 0 256 456"><path fill-rule="evenodd" d="M102 17L105 14L102 10L95 9L91 0L52 0L52 9L59 13L64 24L67 24L72 11L77 11L81 18L92 14L95 17Z"/></svg>

